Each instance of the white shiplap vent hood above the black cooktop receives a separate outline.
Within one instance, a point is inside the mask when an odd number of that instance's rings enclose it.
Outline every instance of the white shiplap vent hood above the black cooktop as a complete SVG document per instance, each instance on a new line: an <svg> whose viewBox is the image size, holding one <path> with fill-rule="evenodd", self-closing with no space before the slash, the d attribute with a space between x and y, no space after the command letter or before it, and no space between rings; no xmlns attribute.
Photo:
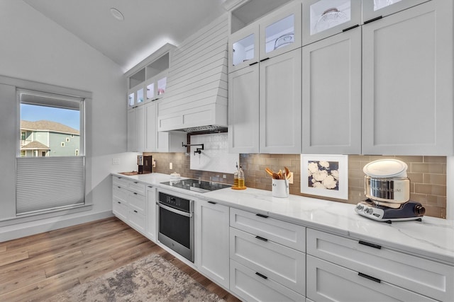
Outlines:
<svg viewBox="0 0 454 302"><path fill-rule="evenodd" d="M228 16L187 38L170 59L158 131L206 132L227 127Z"/></svg>

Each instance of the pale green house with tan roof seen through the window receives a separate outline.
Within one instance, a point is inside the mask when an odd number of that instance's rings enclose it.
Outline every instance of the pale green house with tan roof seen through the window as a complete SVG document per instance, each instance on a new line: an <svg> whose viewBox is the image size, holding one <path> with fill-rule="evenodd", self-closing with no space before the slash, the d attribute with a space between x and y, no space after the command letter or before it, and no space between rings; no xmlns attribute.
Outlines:
<svg viewBox="0 0 454 302"><path fill-rule="evenodd" d="M79 156L80 133L58 122L21 120L21 156Z"/></svg>

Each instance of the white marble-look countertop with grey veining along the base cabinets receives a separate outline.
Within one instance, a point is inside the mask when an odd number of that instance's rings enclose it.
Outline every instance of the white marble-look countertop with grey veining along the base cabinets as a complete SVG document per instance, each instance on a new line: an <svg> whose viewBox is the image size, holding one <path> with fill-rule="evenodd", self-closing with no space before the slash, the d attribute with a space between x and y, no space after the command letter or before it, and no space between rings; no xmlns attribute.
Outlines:
<svg viewBox="0 0 454 302"><path fill-rule="evenodd" d="M394 221L389 224L356 214L355 204L330 202L297 195L277 198L272 197L271 191L251 188L246 190L226 188L199 193L162 185L160 182L171 180L170 175L160 173L133 176L112 174L162 189L173 190L179 194L211 200L228 207L265 214L309 228L367 240L454 266L454 220L452 219L423 216L422 221Z"/></svg>

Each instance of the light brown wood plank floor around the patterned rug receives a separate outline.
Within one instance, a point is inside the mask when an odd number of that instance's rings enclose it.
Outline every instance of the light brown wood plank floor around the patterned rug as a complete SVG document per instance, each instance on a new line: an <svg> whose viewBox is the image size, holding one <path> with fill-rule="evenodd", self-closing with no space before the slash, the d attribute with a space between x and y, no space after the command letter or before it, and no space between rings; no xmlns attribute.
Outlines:
<svg viewBox="0 0 454 302"><path fill-rule="evenodd" d="M41 301L150 254L239 301L115 217L0 243L0 301Z"/></svg>

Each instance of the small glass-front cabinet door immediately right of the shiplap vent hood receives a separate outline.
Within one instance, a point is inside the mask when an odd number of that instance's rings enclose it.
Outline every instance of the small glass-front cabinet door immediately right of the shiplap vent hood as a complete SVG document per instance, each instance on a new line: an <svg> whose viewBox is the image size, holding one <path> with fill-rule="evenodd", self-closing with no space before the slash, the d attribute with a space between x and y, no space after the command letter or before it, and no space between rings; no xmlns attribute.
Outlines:
<svg viewBox="0 0 454 302"><path fill-rule="evenodd" d="M258 25L249 26L233 33L228 39L228 72L258 63Z"/></svg>

